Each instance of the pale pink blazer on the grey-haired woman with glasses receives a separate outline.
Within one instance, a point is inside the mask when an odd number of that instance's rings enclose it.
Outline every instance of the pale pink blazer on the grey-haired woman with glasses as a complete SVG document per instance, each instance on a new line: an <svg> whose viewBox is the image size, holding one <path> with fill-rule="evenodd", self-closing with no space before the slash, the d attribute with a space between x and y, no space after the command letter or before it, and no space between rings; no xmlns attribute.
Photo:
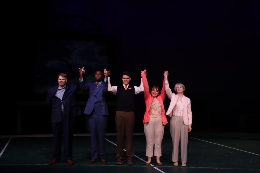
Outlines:
<svg viewBox="0 0 260 173"><path fill-rule="evenodd" d="M171 99L170 106L166 112L166 115L169 115L172 117L172 110L174 106L176 105L176 101L178 100L178 95L172 93L172 90L169 87L169 82L166 80L165 81L165 91L169 99ZM191 105L190 105L190 99L183 95L182 97L183 102L184 102L184 107L183 107L183 122L185 125L192 124L192 111L191 111Z"/></svg>

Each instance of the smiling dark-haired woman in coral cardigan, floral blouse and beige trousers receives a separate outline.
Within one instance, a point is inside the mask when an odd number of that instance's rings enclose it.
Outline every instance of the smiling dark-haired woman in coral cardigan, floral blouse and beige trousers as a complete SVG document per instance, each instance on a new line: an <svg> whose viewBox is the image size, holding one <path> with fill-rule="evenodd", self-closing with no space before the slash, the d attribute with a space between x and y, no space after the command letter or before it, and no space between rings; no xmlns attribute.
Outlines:
<svg viewBox="0 0 260 173"><path fill-rule="evenodd" d="M144 99L146 105L143 123L146 137L146 156L148 157L148 161L145 165L150 165L151 163L154 145L156 162L157 165L161 166L161 141L164 136L164 125L168 123L163 104L166 97L166 91L164 88L164 82L161 93L160 88L157 85L152 86L151 91L149 91L149 86L146 79L146 70L141 71L141 76L144 85Z"/></svg>

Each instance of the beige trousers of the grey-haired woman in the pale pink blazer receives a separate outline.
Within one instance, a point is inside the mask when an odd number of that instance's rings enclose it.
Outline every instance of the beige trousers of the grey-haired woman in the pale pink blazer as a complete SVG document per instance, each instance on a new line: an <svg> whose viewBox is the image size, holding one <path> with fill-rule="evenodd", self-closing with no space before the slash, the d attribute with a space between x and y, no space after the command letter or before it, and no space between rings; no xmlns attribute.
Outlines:
<svg viewBox="0 0 260 173"><path fill-rule="evenodd" d="M187 162L189 125L183 123L183 116L172 116L170 131L172 136L172 161L177 162L179 158L179 142L181 139L181 162Z"/></svg>

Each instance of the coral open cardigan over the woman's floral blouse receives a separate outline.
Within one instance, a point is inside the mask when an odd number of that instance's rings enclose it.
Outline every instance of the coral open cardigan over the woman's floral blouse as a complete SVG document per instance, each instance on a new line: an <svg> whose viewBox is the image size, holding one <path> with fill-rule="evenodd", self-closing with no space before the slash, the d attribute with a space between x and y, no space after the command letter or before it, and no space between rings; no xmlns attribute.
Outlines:
<svg viewBox="0 0 260 173"><path fill-rule="evenodd" d="M144 85L144 100L145 100L145 105L146 105L143 123L146 124L146 123L149 123L149 121L150 121L150 108L151 108L151 104L153 102L153 96L150 94L148 82L146 79L146 74L142 73L142 80L143 80L143 85ZM161 104L161 120L162 120L163 125L166 125L168 123L167 119L166 119L166 115L165 115L165 110L164 110L165 97L166 97L166 92L165 92L165 87L164 87L164 83L163 83L163 87L161 89L161 94L157 97L158 101Z"/></svg>

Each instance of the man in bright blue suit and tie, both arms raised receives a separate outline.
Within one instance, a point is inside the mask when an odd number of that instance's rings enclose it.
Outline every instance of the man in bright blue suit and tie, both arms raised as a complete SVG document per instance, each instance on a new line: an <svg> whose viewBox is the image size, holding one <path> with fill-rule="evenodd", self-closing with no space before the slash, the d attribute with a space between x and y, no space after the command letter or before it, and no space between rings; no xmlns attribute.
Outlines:
<svg viewBox="0 0 260 173"><path fill-rule="evenodd" d="M84 67L81 70L85 73ZM104 93L107 92L107 75L103 81L103 73L100 70L95 72L96 82L90 82L85 84L83 80L83 74L80 73L80 88L85 91L89 91L88 102L84 110L84 114L89 115L88 123L91 135L91 160L89 164L96 163L98 152L97 145L99 142L99 151L101 157L101 163L106 164L106 146L105 136L107 129L107 103Z"/></svg>

